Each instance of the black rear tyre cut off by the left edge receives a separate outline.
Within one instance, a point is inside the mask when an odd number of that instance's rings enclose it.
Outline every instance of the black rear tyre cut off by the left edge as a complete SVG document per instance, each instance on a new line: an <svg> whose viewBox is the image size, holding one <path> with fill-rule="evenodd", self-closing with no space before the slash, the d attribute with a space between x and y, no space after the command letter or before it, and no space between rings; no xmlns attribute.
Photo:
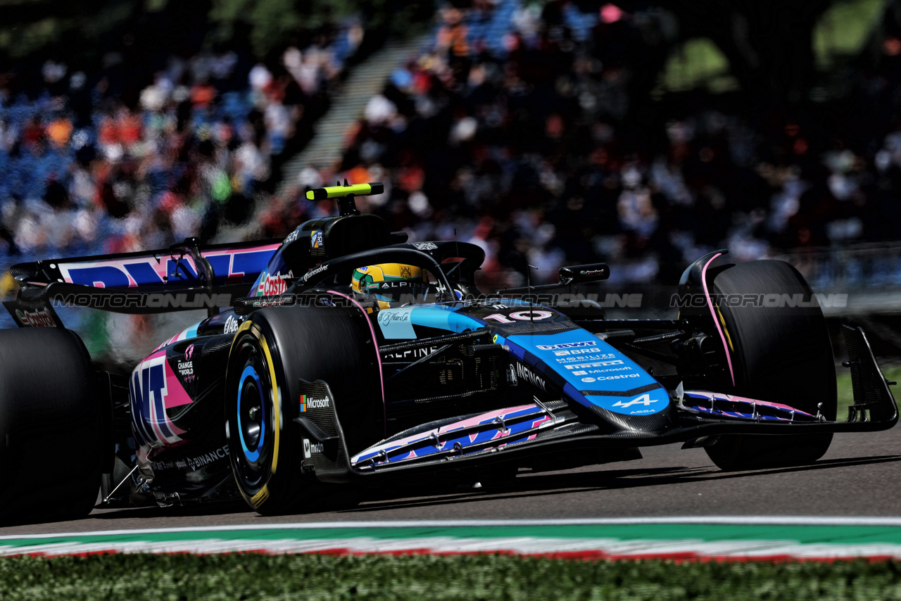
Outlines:
<svg viewBox="0 0 901 601"><path fill-rule="evenodd" d="M75 332L0 331L0 521L89 514L100 489L105 427L112 425L107 417Z"/></svg>

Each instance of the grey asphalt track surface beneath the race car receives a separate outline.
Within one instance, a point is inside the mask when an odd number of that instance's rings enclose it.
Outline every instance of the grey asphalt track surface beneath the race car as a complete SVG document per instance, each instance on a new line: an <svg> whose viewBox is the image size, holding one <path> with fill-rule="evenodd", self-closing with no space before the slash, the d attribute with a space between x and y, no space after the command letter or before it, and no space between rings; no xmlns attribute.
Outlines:
<svg viewBox="0 0 901 601"><path fill-rule="evenodd" d="M724 472L704 450L679 446L646 447L642 460L520 473L503 486L370 489L355 508L338 511L262 517L241 505L103 509L82 520L0 528L0 535L370 520L901 516L901 426L836 434L822 460L796 468Z"/></svg>

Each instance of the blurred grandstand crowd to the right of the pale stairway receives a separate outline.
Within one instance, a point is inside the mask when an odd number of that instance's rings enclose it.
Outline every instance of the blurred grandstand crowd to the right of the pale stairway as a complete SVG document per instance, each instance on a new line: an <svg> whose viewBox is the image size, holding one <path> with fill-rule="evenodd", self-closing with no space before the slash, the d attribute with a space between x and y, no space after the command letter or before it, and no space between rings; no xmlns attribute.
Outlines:
<svg viewBox="0 0 901 601"><path fill-rule="evenodd" d="M610 260L612 280L672 284L719 248L749 260L901 235L896 37L847 139L836 126L815 147L801 120L708 108L671 116L649 150L622 119L642 46L672 27L666 11L482 0L442 18L344 157L354 179L390 180L378 210L417 238L453 224L508 276L529 263L552 281L565 262Z"/></svg>

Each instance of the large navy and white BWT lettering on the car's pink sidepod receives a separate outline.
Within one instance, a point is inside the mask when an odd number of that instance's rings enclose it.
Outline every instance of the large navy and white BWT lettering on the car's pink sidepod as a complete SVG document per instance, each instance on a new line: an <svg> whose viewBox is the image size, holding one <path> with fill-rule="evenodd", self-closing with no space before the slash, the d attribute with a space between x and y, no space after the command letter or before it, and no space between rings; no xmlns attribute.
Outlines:
<svg viewBox="0 0 901 601"><path fill-rule="evenodd" d="M132 423L146 442L178 442L182 433L166 414L166 356L145 360L132 372L128 396L132 405Z"/></svg>

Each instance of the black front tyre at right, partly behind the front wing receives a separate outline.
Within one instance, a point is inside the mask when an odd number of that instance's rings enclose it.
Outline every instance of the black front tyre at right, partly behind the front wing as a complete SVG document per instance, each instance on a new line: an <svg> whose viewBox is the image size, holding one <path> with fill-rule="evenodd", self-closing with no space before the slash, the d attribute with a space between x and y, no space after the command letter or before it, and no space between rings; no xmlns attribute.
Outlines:
<svg viewBox="0 0 901 601"><path fill-rule="evenodd" d="M778 260L739 263L708 277L732 360L734 391L834 420L835 364L823 311L805 279ZM760 302L737 302L739 298ZM803 302L798 303L798 300ZM832 433L721 436L705 447L721 469L772 468L823 457Z"/></svg>

